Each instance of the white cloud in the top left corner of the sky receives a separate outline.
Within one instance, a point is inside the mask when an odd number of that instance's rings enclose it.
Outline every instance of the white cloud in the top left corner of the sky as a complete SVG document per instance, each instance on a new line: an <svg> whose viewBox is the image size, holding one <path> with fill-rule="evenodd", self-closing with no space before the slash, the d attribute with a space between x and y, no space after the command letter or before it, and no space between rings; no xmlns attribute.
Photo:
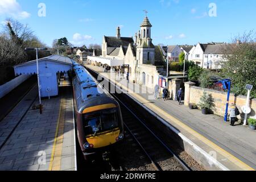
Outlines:
<svg viewBox="0 0 256 182"><path fill-rule="evenodd" d="M25 19L30 17L30 13L23 11L16 0L1 0L0 14L13 16L16 19Z"/></svg>

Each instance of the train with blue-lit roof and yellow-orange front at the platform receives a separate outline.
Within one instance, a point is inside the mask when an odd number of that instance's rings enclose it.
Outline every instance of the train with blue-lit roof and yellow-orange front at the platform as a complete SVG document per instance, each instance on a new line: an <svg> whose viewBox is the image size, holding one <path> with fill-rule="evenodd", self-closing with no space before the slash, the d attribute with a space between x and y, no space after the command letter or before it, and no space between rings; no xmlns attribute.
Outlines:
<svg viewBox="0 0 256 182"><path fill-rule="evenodd" d="M92 154L109 160L112 148L124 139L120 106L83 65L72 63L76 131L82 154L85 160Z"/></svg>

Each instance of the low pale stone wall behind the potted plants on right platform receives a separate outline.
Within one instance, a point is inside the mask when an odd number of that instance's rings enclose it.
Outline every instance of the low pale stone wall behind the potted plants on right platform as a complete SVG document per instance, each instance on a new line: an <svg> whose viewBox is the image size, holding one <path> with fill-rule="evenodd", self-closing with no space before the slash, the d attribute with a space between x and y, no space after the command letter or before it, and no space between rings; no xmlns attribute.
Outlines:
<svg viewBox="0 0 256 182"><path fill-rule="evenodd" d="M187 87L188 88L188 87ZM224 116L225 115L225 109L226 109L226 98L227 98L227 93L226 92L221 92L217 90L212 90L212 89L204 89L200 88L197 86L191 86L189 90L189 97L185 96L185 99L187 98L188 103L190 104L198 104L200 101L200 97L203 95L203 92L206 91L208 94L212 94L212 97L214 99L214 114ZM188 90L185 90L185 94L188 94ZM242 113L241 107L246 105L246 96L237 96L235 97L234 94L230 94L229 98L229 104L236 104L238 109L240 110L240 113ZM229 105L230 106L230 105ZM250 118L255 118L256 119L256 99L250 100L250 107L251 107L251 113ZM243 114L241 114L241 117L243 117Z"/></svg>

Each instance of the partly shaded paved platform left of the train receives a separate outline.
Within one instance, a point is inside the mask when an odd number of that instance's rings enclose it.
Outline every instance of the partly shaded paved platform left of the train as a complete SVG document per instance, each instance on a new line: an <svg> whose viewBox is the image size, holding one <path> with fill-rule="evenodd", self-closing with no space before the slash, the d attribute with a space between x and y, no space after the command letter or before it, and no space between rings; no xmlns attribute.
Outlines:
<svg viewBox="0 0 256 182"><path fill-rule="evenodd" d="M75 171L76 138L71 88L38 105L35 85L0 121L1 171Z"/></svg>

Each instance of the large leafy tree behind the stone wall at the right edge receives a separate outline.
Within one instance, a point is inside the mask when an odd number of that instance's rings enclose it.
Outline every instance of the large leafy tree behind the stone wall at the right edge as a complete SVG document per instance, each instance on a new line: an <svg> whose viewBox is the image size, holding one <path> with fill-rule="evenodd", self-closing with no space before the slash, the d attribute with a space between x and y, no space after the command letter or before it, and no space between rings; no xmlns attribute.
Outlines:
<svg viewBox="0 0 256 182"><path fill-rule="evenodd" d="M232 92L236 94L247 93L246 84L253 85L251 94L256 97L256 32L245 32L237 36L231 44L225 44L222 49L224 59L222 61L221 75L232 80Z"/></svg>

